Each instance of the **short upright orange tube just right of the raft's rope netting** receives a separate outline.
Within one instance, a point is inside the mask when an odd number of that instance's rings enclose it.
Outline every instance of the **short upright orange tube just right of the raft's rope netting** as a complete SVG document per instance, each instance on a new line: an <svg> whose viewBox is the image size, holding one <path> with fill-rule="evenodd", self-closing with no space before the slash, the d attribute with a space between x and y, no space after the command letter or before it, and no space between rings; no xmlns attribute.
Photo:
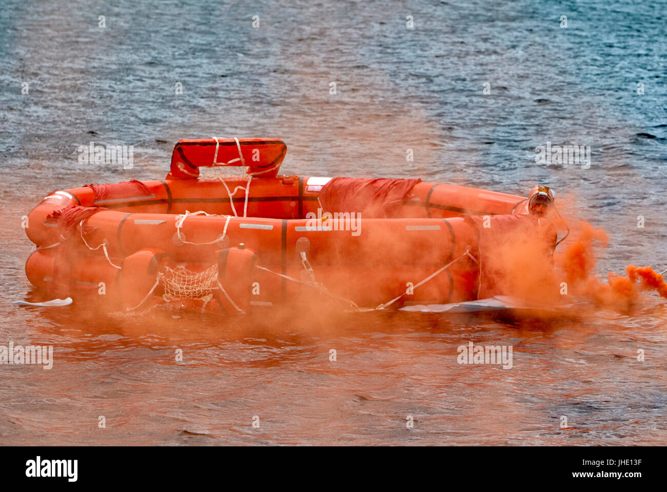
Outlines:
<svg viewBox="0 0 667 492"><path fill-rule="evenodd" d="M215 297L227 313L248 312L252 273L258 259L257 253L243 243L218 252L217 281L224 292L215 291Z"/></svg>

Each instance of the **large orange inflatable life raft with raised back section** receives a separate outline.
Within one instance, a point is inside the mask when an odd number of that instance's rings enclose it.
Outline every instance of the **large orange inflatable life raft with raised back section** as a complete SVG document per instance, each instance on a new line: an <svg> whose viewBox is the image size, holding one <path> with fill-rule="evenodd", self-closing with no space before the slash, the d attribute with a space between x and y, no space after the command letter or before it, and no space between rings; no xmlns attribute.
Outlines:
<svg viewBox="0 0 667 492"><path fill-rule="evenodd" d="M163 180L53 191L28 215L27 277L43 297L113 310L444 304L480 296L484 221L540 227L516 213L524 197L279 175L285 152L279 139L186 139Z"/></svg>

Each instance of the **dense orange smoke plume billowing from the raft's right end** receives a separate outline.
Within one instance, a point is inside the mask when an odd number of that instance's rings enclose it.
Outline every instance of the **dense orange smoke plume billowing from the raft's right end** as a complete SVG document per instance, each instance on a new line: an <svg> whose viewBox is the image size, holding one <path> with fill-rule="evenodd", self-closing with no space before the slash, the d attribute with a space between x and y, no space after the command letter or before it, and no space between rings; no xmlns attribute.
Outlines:
<svg viewBox="0 0 667 492"><path fill-rule="evenodd" d="M527 217L522 220L525 222ZM536 305L562 305L574 297L620 313L636 309L644 299L642 294L648 291L667 298L667 283L648 266L629 265L626 275L610 272L606 279L598 277L596 261L609 237L604 229L586 221L574 225L574 232L553 259L548 251L554 244L550 241L554 241L555 231L544 223L533 229L508 223L491 233L494 227L480 239L480 298L512 295Z"/></svg>

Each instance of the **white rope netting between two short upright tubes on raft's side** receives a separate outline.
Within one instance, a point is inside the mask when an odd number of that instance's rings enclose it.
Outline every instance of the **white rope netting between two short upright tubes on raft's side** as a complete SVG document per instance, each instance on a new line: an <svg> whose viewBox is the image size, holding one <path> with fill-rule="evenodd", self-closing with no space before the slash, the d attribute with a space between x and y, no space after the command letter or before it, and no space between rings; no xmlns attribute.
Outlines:
<svg viewBox="0 0 667 492"><path fill-rule="evenodd" d="M175 269L165 267L165 271L158 275L165 289L162 298L167 302L199 299L207 303L213 298L213 289L217 289L213 287L213 284L217 283L217 265L211 265L199 273L189 271L183 266Z"/></svg>

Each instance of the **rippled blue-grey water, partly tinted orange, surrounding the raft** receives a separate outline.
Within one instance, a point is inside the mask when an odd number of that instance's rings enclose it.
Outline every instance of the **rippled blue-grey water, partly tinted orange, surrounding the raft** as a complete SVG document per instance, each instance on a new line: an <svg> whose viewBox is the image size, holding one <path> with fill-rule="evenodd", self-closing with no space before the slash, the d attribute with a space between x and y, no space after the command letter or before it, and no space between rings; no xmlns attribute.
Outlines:
<svg viewBox="0 0 667 492"><path fill-rule="evenodd" d="M600 271L662 271L664 1L2 0L0 11L0 345L55 347L50 371L0 365L0 443L667 442L656 298L633 317L549 323L121 321L9 303L30 291L21 215L40 197L163 177L175 141L211 135L281 137L283 170L300 175L418 176L522 195L546 183L610 235ZM91 140L134 145L134 168L79 164ZM536 164L547 141L590 145L590 169ZM456 349L471 340L513 345L514 367L459 365Z"/></svg>

